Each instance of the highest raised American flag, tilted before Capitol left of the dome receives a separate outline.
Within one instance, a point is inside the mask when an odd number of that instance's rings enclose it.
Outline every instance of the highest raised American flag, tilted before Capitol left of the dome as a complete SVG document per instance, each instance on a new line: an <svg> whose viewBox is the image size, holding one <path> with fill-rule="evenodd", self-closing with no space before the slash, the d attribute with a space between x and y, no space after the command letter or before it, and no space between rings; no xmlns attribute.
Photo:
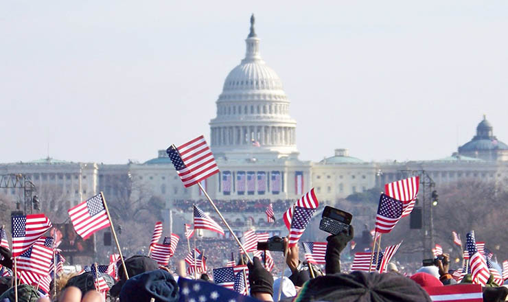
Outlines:
<svg viewBox="0 0 508 302"><path fill-rule="evenodd" d="M185 187L196 185L219 172L203 135L176 148L170 146L166 152Z"/></svg>

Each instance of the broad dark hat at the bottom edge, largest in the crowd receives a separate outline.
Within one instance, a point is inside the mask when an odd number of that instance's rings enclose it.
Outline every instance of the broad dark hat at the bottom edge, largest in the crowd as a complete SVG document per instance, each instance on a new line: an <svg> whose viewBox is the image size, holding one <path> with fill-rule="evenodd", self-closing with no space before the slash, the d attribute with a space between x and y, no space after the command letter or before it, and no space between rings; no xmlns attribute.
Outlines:
<svg viewBox="0 0 508 302"><path fill-rule="evenodd" d="M300 301L411 301L430 302L430 297L413 280L393 273L355 271L317 277L305 283L298 294Z"/></svg>

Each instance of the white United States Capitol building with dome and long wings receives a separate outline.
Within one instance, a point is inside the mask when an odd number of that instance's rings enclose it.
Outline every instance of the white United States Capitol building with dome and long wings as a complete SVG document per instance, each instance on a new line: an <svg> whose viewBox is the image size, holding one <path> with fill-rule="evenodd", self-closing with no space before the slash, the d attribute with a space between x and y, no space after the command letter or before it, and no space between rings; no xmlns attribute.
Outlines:
<svg viewBox="0 0 508 302"><path fill-rule="evenodd" d="M473 127L477 121L471 121L472 139L457 152L450 150L451 155L443 159L368 162L349 154L343 146L329 150L319 162L300 159L297 121L290 117L290 97L277 73L262 59L253 18L245 43L245 56L224 80L216 100L216 116L209 122L207 140L220 168L219 174L203 182L211 198L223 202L268 200L276 205L283 200L296 200L314 187L320 202L334 204L339 198L396 181L402 170L425 170L437 185L462 179L499 181L508 177L508 146L494 136L493 126L485 116L476 126L476 133ZM161 146L157 157L144 163L108 165L47 158L1 163L0 174L21 173L38 189L57 188L71 205L99 191L104 191L106 198L114 196L115 183L119 181L143 185L152 196L165 200L168 209L182 200L204 199L198 186L183 187L165 152L167 147ZM14 189L0 189L1 193L12 198L18 194ZM276 211L276 216L280 217L280 211L278 215ZM262 209L256 213L232 213L231 219L240 221L236 229L241 230L264 225L266 216ZM251 222L242 225L247 220Z"/></svg>

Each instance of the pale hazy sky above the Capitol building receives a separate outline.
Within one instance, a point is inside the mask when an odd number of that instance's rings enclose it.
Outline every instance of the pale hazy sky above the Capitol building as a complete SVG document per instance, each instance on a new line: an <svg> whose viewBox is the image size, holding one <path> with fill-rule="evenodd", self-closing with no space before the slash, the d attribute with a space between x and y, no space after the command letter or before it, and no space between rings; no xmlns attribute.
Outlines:
<svg viewBox="0 0 508 302"><path fill-rule="evenodd" d="M249 19L300 159L508 143L508 1L2 1L0 162L144 162L205 134ZM49 151L49 152L48 152Z"/></svg>

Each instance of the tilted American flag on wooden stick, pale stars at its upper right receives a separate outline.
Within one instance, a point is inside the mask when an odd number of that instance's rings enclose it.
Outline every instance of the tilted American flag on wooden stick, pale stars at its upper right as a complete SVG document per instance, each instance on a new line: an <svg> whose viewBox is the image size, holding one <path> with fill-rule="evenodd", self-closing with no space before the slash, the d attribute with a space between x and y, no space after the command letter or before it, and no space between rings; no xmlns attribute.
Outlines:
<svg viewBox="0 0 508 302"><path fill-rule="evenodd" d="M86 240L96 231L111 225L106 209L104 209L102 192L69 209L69 216L71 216L71 222L76 233L83 240Z"/></svg>

